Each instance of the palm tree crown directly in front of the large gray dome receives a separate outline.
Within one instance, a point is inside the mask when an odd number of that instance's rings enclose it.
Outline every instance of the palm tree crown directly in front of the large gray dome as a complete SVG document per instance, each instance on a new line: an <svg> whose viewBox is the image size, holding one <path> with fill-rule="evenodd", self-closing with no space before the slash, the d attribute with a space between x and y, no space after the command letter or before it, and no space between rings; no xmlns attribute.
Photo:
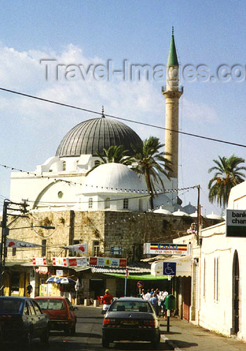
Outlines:
<svg viewBox="0 0 246 351"><path fill-rule="evenodd" d="M86 173L86 176L91 171L93 171L93 169L100 166L100 164L115 162L115 163L125 164L125 166L129 166L130 164L132 164L132 161L134 160L132 156L127 156L129 153L129 150L124 150L122 145L109 146L108 149L104 148L103 152L104 152L104 155L101 155L100 153L98 153L98 151L96 152L96 155L100 157L100 162L98 164L95 164L95 166L93 166L90 169L90 171Z"/></svg>

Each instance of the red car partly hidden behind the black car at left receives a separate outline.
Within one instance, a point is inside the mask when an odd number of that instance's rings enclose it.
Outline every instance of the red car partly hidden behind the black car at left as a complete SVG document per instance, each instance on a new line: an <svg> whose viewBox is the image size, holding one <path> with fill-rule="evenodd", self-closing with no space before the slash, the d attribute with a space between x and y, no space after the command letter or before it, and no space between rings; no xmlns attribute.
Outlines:
<svg viewBox="0 0 246 351"><path fill-rule="evenodd" d="M38 296L35 300L44 313L49 315L51 330L64 330L66 335L74 335L77 323L75 307L67 297Z"/></svg>

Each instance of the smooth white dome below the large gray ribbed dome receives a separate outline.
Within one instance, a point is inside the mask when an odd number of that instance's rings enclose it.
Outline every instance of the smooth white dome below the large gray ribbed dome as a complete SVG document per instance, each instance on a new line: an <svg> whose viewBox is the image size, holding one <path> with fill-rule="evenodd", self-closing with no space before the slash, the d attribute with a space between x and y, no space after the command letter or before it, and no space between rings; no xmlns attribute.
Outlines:
<svg viewBox="0 0 246 351"><path fill-rule="evenodd" d="M93 192L146 193L145 182L141 182L132 169L125 164L101 164L86 176L82 194Z"/></svg>

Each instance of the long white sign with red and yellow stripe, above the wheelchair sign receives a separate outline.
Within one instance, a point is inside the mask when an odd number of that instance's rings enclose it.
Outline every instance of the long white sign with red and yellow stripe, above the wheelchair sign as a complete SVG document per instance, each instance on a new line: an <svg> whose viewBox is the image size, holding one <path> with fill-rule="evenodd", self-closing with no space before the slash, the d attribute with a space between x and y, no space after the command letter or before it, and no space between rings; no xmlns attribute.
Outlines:
<svg viewBox="0 0 246 351"><path fill-rule="evenodd" d="M167 244L149 243L144 244L144 253L151 255L191 255L191 244Z"/></svg>

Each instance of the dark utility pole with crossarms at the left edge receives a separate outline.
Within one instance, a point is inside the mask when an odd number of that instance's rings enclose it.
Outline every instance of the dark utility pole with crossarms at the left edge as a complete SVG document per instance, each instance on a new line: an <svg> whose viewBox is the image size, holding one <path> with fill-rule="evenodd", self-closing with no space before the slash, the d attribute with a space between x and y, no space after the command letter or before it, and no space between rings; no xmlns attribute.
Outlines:
<svg viewBox="0 0 246 351"><path fill-rule="evenodd" d="M9 205L17 205L20 208L9 208ZM8 235L9 229L7 225L8 216L14 215L15 217L24 217L18 214L9 214L8 210L20 211L26 213L27 203L14 203L13 201L8 200L7 198L3 201L3 218L1 221L1 251L0 251L0 296L3 296L4 289L4 276L5 276L5 260L6 260L6 237Z"/></svg>

